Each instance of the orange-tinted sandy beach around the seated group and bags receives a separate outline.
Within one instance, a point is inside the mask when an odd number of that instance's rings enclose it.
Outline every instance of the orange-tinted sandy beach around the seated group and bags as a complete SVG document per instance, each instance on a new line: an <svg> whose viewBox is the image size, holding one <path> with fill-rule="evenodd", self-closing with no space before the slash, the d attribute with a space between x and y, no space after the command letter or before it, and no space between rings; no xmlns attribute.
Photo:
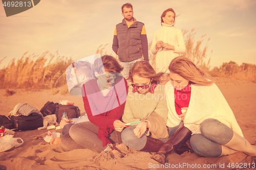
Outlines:
<svg viewBox="0 0 256 170"><path fill-rule="evenodd" d="M256 144L256 84L249 81L217 78L217 86L225 96L233 110L245 138ZM4 96L5 89L0 90L1 115L8 113L18 103L27 103L40 110L47 101L54 103L60 100L74 102L85 114L81 97L70 94L52 95L51 90L9 89L15 91L11 96ZM50 130L61 132L61 130ZM24 143L0 153L0 169L254 169L256 157L242 152L233 155L204 158L195 153L176 153L167 157L165 166L151 159L152 153L138 152L129 149L124 158L112 159L108 153L98 154L89 149L63 151L61 144L50 145L43 138L48 130L32 130L16 132L14 137L20 137ZM237 164L236 164L237 163ZM228 165L230 167L228 167ZM233 165L233 166L232 166ZM236 165L239 165L237 167ZM250 166L250 167L249 167ZM161 167L161 168L158 168ZM201 167L201 168L200 168Z"/></svg>

